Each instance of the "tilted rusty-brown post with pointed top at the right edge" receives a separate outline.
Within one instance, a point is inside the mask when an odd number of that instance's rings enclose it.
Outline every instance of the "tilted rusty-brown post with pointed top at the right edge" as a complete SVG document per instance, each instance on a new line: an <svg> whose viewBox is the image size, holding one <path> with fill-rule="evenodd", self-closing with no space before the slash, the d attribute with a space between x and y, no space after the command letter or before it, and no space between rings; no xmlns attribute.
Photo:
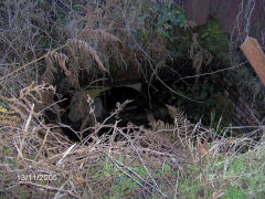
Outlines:
<svg viewBox="0 0 265 199"><path fill-rule="evenodd" d="M257 40L246 36L244 43L241 45L241 50L250 61L256 74L259 76L263 85L265 85L265 55Z"/></svg>

